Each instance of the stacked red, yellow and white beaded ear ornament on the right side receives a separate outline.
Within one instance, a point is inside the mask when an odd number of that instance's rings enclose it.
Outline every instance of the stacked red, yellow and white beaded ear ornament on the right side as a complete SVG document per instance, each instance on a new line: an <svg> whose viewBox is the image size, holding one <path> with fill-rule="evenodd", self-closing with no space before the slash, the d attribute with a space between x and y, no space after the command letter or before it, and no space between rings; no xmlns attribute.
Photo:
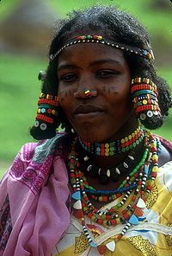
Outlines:
<svg viewBox="0 0 172 256"><path fill-rule="evenodd" d="M138 121L148 129L156 129L162 123L158 105L157 86L148 78L132 79L132 103Z"/></svg>

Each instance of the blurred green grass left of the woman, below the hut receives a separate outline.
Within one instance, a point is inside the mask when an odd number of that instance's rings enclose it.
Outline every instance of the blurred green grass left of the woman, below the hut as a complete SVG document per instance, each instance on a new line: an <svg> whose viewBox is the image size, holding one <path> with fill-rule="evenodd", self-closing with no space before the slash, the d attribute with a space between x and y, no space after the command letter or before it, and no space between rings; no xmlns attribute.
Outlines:
<svg viewBox="0 0 172 256"><path fill-rule="evenodd" d="M0 159L10 161L23 143L31 140L40 82L37 75L46 64L28 56L1 55L0 69Z"/></svg>

